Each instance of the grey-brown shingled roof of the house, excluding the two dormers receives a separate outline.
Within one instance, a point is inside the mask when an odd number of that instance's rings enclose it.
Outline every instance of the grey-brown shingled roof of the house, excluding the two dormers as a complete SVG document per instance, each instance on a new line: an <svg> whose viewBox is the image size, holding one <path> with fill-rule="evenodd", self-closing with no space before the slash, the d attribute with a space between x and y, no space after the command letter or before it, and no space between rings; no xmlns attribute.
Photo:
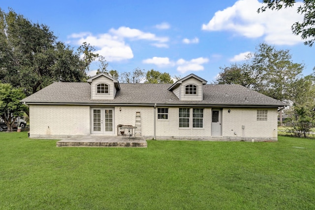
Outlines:
<svg viewBox="0 0 315 210"><path fill-rule="evenodd" d="M27 104L283 107L287 104L240 85L203 85L202 101L181 101L172 84L120 84L113 100L92 100L89 83L53 83L24 98Z"/></svg>

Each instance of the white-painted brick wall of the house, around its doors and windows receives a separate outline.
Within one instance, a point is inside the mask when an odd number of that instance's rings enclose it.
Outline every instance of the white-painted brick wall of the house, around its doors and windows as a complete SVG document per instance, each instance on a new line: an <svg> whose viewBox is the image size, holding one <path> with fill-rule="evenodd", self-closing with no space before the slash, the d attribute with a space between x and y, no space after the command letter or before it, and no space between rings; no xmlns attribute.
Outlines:
<svg viewBox="0 0 315 210"><path fill-rule="evenodd" d="M267 121L257 121L257 108L223 108L222 136L219 137L211 136L211 110L204 108L203 128L192 128L192 124L189 128L179 128L179 107L168 107L168 119L158 120L158 109L154 109L153 106L117 106L114 115L115 135L118 124L135 125L136 112L140 112L142 135L148 138L154 136L155 113L157 139L277 140L276 108L267 109ZM90 113L90 106L30 105L30 136L59 138L89 135ZM190 116L192 117L192 110ZM190 121L192 122L192 118ZM242 129L242 125L245 129Z"/></svg>

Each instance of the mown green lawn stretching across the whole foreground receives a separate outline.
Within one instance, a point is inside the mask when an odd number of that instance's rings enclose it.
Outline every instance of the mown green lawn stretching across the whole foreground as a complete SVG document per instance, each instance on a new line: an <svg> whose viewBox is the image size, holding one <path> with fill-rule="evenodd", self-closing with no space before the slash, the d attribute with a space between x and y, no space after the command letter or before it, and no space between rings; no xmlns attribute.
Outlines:
<svg viewBox="0 0 315 210"><path fill-rule="evenodd" d="M305 149L306 148L306 149ZM0 133L0 209L315 209L315 140L57 148Z"/></svg>

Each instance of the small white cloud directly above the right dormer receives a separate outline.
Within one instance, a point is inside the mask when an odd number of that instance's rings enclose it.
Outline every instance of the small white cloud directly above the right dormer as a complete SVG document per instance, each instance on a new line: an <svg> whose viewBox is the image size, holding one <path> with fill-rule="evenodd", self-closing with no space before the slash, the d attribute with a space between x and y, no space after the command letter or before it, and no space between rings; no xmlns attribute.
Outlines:
<svg viewBox="0 0 315 210"><path fill-rule="evenodd" d="M184 60L179 59L177 60L176 64L178 65L177 71L184 74L187 71L202 71L204 70L204 66L202 64L209 62L209 59L207 58L197 58L192 60Z"/></svg>

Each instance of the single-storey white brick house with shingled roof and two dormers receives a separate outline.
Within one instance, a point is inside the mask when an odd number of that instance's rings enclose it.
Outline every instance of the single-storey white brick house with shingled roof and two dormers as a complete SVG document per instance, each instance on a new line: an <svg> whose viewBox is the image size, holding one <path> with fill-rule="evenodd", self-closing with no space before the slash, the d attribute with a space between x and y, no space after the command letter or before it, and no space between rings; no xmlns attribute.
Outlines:
<svg viewBox="0 0 315 210"><path fill-rule="evenodd" d="M53 83L22 100L30 137L118 135L137 126L147 139L277 141L285 103L240 85L207 85L190 74L174 84L120 84L100 73L84 83Z"/></svg>

